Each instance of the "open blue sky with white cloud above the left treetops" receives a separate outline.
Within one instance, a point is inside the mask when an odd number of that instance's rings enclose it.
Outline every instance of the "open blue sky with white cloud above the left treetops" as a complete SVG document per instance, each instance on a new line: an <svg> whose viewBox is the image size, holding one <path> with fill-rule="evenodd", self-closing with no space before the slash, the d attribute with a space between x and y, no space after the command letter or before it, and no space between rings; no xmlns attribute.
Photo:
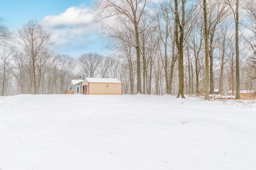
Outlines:
<svg viewBox="0 0 256 170"><path fill-rule="evenodd" d="M99 28L92 21L90 5L94 0L0 0L0 17L10 31L29 20L37 20L52 33L56 53L79 57L83 53L108 53L96 37Z"/></svg>

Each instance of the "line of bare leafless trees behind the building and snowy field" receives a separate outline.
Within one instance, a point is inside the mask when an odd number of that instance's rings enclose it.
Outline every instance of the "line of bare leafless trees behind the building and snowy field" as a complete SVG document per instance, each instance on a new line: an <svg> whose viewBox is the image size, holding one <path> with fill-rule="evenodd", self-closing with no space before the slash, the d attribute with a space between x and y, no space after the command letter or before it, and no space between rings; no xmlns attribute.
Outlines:
<svg viewBox="0 0 256 170"><path fill-rule="evenodd" d="M256 90L255 0L98 0L92 9L113 54L56 54L36 20L15 33L0 24L1 95L60 94L84 77L118 78L126 94Z"/></svg>

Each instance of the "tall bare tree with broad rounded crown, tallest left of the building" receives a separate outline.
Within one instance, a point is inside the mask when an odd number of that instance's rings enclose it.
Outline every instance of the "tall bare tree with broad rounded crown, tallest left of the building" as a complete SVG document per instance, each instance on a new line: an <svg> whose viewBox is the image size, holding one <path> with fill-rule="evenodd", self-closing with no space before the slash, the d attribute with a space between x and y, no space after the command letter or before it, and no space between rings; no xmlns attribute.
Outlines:
<svg viewBox="0 0 256 170"><path fill-rule="evenodd" d="M47 33L36 20L30 20L18 29L17 36L21 40L20 45L24 47L24 51L32 61L31 94L36 94L36 61L38 54L44 48L53 45L54 42L50 39L51 34Z"/></svg>

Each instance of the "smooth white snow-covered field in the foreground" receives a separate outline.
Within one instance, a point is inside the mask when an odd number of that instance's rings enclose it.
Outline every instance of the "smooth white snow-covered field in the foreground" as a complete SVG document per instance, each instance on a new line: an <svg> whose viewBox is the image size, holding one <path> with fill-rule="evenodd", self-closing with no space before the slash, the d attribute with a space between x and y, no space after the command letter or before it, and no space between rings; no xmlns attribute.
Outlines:
<svg viewBox="0 0 256 170"><path fill-rule="evenodd" d="M256 104L0 97L1 170L255 170Z"/></svg>

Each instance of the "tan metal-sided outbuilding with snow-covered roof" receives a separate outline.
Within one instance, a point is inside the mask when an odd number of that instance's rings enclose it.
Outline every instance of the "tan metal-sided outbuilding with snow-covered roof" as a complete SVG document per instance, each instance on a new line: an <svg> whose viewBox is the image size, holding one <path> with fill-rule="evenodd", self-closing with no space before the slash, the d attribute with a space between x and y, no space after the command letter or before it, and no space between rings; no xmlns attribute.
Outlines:
<svg viewBox="0 0 256 170"><path fill-rule="evenodd" d="M116 78L84 78L82 93L122 95L122 82Z"/></svg>

